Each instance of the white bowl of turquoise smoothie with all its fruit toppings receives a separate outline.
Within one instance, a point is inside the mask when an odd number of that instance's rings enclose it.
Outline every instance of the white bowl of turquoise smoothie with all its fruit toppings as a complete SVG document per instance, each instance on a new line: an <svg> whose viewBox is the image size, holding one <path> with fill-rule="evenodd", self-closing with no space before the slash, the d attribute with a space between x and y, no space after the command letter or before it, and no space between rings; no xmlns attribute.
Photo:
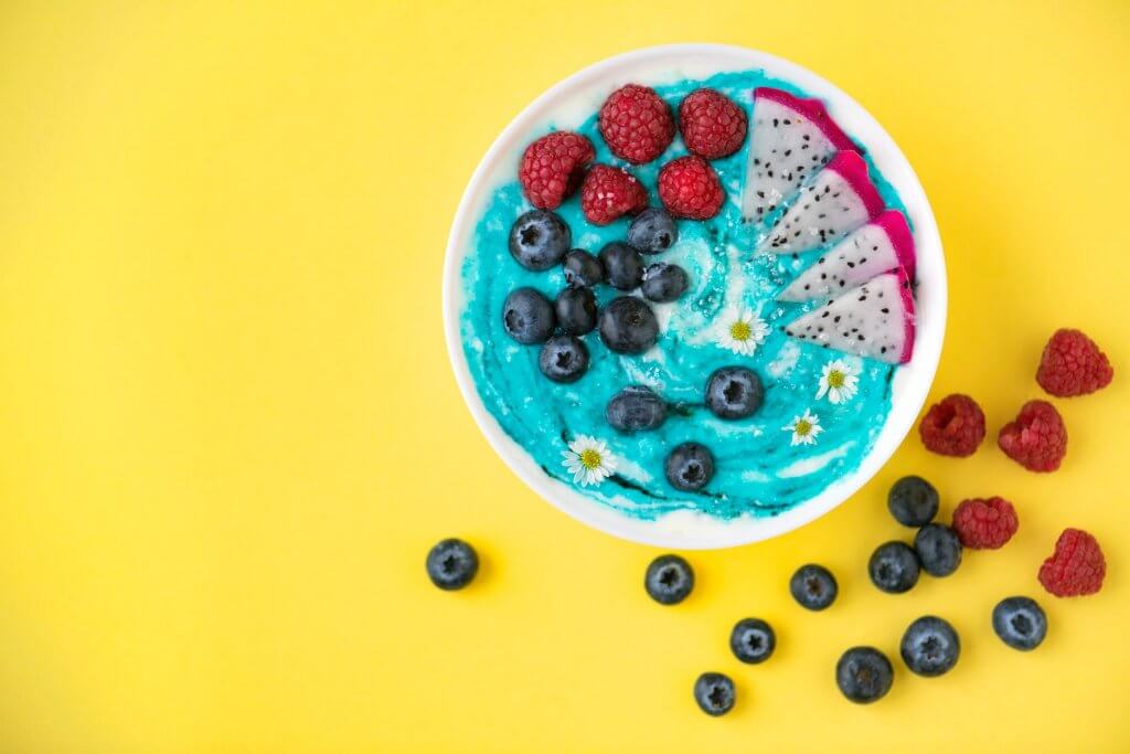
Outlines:
<svg viewBox="0 0 1130 754"><path fill-rule="evenodd" d="M789 531L912 426L941 243L862 107L779 58L675 45L563 81L495 141L444 269L447 346L490 444L610 534Z"/></svg>

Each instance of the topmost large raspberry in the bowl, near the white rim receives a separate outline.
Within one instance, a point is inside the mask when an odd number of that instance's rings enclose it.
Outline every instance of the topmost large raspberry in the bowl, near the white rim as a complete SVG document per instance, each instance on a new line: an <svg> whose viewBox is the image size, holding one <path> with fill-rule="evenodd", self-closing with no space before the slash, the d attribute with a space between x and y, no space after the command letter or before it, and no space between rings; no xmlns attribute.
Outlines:
<svg viewBox="0 0 1130 754"><path fill-rule="evenodd" d="M600 135L617 157L637 165L650 163L675 138L675 119L654 89L628 84L601 105Z"/></svg>

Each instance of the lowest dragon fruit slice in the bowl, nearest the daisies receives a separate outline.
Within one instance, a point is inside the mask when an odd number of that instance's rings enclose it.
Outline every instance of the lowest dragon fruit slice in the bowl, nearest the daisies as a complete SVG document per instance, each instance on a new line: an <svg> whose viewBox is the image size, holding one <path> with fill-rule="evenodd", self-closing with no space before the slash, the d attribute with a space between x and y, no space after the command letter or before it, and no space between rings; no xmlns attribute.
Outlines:
<svg viewBox="0 0 1130 754"><path fill-rule="evenodd" d="M906 270L885 272L784 328L825 348L905 364L914 352L914 298Z"/></svg>

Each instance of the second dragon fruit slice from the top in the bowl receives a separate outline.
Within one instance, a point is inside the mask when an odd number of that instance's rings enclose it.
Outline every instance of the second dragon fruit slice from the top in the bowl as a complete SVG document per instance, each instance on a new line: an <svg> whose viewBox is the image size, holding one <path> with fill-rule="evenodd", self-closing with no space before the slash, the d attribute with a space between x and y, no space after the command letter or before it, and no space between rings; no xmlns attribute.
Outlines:
<svg viewBox="0 0 1130 754"><path fill-rule="evenodd" d="M863 158L854 151L838 151L801 188L757 253L796 254L819 249L875 219L883 207Z"/></svg>

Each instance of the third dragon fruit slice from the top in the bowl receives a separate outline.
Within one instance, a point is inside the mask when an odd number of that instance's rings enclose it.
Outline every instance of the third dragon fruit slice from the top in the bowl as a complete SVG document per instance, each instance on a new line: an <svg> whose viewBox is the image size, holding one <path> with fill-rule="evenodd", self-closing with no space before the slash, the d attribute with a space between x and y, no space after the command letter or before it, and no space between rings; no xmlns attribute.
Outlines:
<svg viewBox="0 0 1130 754"><path fill-rule="evenodd" d="M898 267L914 279L914 236L903 214L888 209L820 255L777 300L824 298Z"/></svg>

